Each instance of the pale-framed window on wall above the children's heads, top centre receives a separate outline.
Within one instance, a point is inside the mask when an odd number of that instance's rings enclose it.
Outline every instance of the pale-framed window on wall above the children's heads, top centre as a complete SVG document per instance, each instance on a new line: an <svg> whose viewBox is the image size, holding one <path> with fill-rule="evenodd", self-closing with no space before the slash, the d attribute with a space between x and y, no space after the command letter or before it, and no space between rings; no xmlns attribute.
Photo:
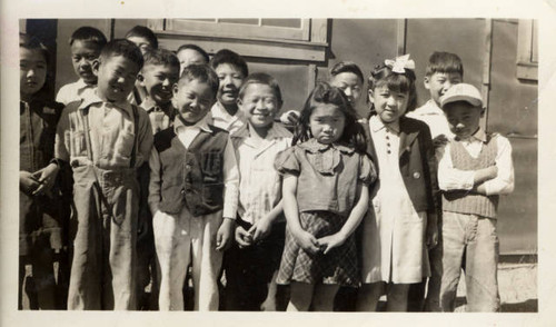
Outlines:
<svg viewBox="0 0 556 327"><path fill-rule="evenodd" d="M277 60L326 60L326 19L207 18L149 19L162 48L195 43L209 53L230 49L241 56Z"/></svg>

